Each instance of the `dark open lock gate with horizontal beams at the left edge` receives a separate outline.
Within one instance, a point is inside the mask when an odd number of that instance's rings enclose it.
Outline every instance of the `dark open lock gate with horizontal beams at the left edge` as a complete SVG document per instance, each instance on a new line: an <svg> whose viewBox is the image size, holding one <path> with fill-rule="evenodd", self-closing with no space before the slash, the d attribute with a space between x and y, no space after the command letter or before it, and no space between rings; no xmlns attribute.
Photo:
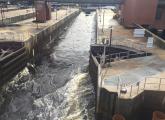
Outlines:
<svg viewBox="0 0 165 120"><path fill-rule="evenodd" d="M26 48L12 52L0 59L0 85L14 77L17 72L22 70L28 61Z"/></svg>

